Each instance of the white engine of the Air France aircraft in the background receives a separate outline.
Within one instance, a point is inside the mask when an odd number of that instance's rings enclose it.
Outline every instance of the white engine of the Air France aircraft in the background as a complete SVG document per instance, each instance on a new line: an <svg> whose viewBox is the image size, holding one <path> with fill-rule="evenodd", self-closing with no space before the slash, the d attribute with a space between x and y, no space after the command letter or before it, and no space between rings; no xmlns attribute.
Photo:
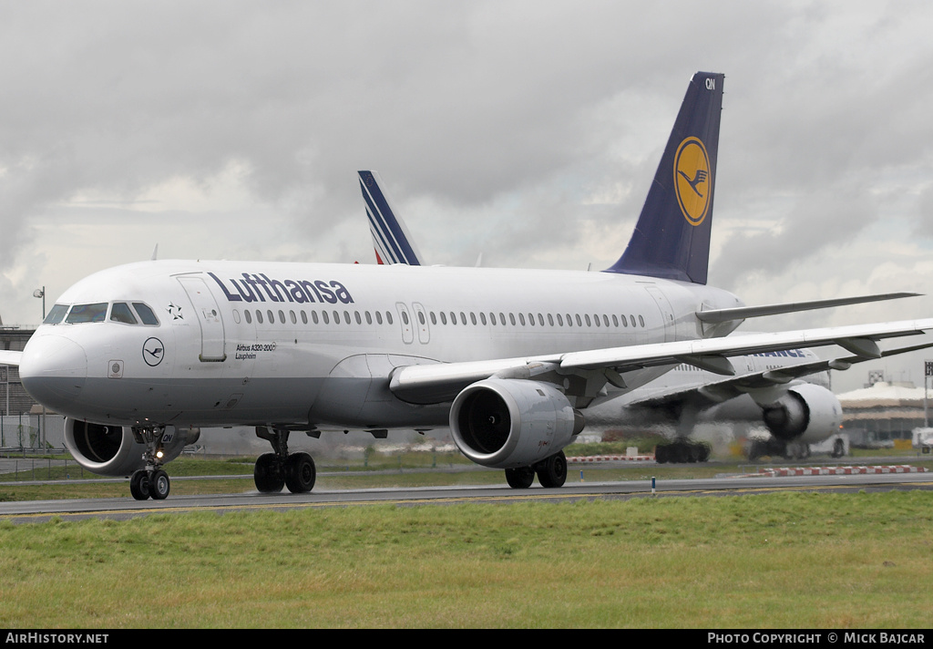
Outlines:
<svg viewBox="0 0 933 649"><path fill-rule="evenodd" d="M822 442L842 425L842 404L836 395L810 383L789 388L783 397L762 408L765 426L785 442Z"/></svg>

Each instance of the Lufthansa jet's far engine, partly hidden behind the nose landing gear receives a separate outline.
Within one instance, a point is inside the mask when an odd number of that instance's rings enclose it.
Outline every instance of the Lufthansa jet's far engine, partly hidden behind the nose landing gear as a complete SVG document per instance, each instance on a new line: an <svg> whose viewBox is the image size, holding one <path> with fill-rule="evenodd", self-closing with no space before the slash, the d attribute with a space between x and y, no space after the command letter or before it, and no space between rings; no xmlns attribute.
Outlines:
<svg viewBox="0 0 933 649"><path fill-rule="evenodd" d="M198 429L169 426L162 436L161 461L177 458L185 446L201 436ZM129 426L93 424L72 417L64 420L64 444L77 463L99 475L130 475L146 467L146 444L136 441Z"/></svg>

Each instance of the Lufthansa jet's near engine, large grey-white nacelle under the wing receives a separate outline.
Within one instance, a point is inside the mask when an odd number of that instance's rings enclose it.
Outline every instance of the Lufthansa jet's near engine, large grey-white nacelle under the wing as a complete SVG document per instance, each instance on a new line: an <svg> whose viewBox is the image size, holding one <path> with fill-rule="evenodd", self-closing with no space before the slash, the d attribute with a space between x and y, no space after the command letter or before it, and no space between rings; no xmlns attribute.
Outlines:
<svg viewBox="0 0 933 649"><path fill-rule="evenodd" d="M491 378L453 400L451 432L460 451L494 469L549 458L583 430L583 416L548 383Z"/></svg>

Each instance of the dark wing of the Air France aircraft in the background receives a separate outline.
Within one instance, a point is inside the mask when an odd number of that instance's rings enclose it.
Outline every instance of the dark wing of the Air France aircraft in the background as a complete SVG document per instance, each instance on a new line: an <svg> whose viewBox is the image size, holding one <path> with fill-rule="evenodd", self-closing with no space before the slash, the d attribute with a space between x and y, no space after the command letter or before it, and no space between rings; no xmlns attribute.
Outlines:
<svg viewBox="0 0 933 649"><path fill-rule="evenodd" d="M906 354L907 352L926 349L931 346L933 346L933 343L887 349L882 352L882 357L887 358L889 356L897 356L898 354ZM715 405L716 403L734 399L747 392L774 388L775 386L781 386L811 374L826 372L828 370L847 370L852 365L865 360L870 359L861 356L847 356L832 360L812 360L774 370L763 370L761 372L724 378L719 381L703 383L702 385L690 386L689 388L678 387L660 390L642 399L627 402L626 405L656 408L689 402L699 409L703 409Z"/></svg>

